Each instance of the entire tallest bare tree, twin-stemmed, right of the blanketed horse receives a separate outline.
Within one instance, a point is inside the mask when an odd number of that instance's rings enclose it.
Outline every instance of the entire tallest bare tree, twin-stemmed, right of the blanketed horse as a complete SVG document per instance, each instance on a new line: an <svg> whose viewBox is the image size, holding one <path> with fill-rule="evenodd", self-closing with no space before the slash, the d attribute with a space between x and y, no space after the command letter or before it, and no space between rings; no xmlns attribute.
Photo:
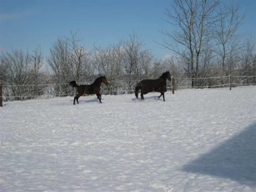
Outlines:
<svg viewBox="0 0 256 192"><path fill-rule="evenodd" d="M212 38L211 27L216 21L215 9L218 0L174 0L172 8L166 9L167 23L177 27L174 33L163 31L168 40L163 46L184 57L187 64L187 74L193 79L198 76L199 57L202 53L204 41ZM196 66L194 66L196 62ZM194 80L192 79L192 87Z"/></svg>

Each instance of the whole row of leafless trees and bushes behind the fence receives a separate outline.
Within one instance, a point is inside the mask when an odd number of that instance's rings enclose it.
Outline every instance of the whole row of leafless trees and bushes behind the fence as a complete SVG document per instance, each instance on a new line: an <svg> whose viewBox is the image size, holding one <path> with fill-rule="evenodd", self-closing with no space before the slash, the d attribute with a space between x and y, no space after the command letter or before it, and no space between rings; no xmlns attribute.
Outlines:
<svg viewBox="0 0 256 192"><path fill-rule="evenodd" d="M100 75L109 82L103 88L106 94L129 93L136 81L158 78L167 70L174 77L189 78L177 82L189 87L225 84L222 78L200 77L255 76L255 43L239 39L237 30L244 16L238 11L238 5L221 4L218 0L173 0L165 11L166 29L159 33L164 35L159 46L172 53L168 58L156 58L134 32L115 44L87 50L78 32L71 31L53 43L46 58L40 46L32 52L2 52L0 80L10 85L4 87L4 95L15 100L71 95L74 90L69 81L94 81ZM168 26L175 30L168 30ZM45 65L47 69L43 69ZM255 80L236 78L233 82L248 84Z"/></svg>

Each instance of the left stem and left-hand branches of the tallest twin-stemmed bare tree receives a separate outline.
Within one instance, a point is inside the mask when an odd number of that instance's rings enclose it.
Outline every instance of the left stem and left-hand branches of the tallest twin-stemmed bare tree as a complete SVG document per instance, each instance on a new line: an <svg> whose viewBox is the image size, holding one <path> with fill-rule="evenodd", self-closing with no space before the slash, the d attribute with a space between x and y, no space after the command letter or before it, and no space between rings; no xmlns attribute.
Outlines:
<svg viewBox="0 0 256 192"><path fill-rule="evenodd" d="M192 30L196 20L196 2L192 0L174 0L172 10L166 8L168 19L166 22L174 27L176 31L162 31L167 37L164 39L163 46L183 57L187 62L186 72L188 76L194 73L194 47Z"/></svg>

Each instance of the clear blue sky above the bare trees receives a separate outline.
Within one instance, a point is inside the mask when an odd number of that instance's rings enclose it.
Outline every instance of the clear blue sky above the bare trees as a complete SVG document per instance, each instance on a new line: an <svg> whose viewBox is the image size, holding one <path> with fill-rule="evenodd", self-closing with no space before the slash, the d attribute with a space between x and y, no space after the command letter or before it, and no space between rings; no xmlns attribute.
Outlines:
<svg viewBox="0 0 256 192"><path fill-rule="evenodd" d="M240 14L245 13L244 24L238 30L242 37L256 41L256 1L239 2ZM173 30L163 19L167 0L105 0L105 1L41 1L0 0L0 50L23 49L32 51L39 44L44 57L50 47L70 30L78 31L85 48L105 47L127 39L134 31L140 35L145 49L162 58L169 51L162 49L162 27Z"/></svg>

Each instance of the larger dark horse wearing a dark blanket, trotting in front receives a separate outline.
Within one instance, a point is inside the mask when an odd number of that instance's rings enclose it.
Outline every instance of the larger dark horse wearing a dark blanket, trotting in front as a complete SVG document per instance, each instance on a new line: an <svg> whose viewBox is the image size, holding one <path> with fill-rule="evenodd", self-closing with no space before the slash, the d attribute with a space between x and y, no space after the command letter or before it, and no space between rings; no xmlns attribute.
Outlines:
<svg viewBox="0 0 256 192"><path fill-rule="evenodd" d="M143 79L140 83L136 85L135 88L135 96L138 98L139 90L141 90L141 100L144 100L143 94L147 94L148 92L160 92L161 95L158 96L160 98L163 96L165 101L165 92L166 90L166 79L171 81L171 74L169 71L163 73L158 79Z"/></svg>

